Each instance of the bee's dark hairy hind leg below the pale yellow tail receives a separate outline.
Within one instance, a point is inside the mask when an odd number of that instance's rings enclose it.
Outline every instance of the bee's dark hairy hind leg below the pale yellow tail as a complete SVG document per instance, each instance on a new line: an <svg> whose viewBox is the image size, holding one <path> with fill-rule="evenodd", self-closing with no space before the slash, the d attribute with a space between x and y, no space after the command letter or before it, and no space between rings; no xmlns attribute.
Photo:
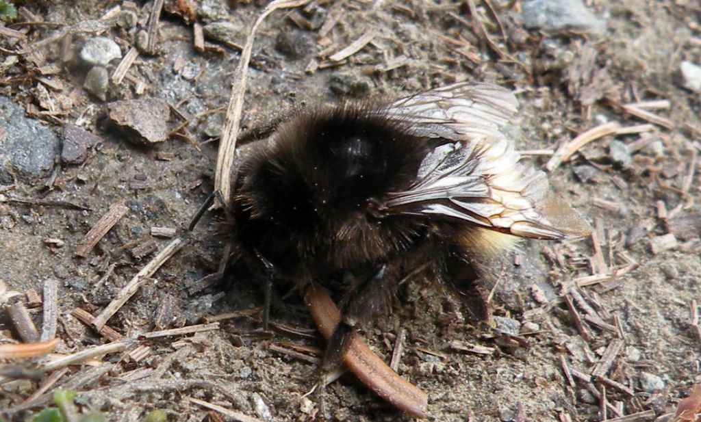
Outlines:
<svg viewBox="0 0 701 422"><path fill-rule="evenodd" d="M489 318L486 294L479 284L479 272L460 246L440 241L434 248L433 272L436 278L460 297L472 323Z"/></svg>

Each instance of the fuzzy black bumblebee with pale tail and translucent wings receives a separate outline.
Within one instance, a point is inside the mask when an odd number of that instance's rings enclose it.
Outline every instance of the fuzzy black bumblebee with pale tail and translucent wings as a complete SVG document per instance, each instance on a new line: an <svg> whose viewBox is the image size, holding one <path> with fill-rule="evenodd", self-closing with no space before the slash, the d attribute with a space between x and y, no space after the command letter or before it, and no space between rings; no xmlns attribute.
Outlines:
<svg viewBox="0 0 701 422"><path fill-rule="evenodd" d="M386 105L299 113L238 170L226 225L233 271L303 291L343 280L327 367L426 262L473 319L484 318L485 257L517 237L589 232L542 171L519 163L501 131L516 111L502 87L456 83Z"/></svg>

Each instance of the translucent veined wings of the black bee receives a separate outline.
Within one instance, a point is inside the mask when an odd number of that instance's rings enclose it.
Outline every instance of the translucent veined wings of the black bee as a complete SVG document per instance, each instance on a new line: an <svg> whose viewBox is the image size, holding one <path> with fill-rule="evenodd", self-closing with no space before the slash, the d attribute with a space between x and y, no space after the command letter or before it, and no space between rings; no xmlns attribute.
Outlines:
<svg viewBox="0 0 701 422"><path fill-rule="evenodd" d="M386 197L388 212L463 220L538 239L590 232L554 195L543 171L519 162L501 131L517 111L508 90L458 83L400 99L387 111L417 136L448 141L426 156L408 190Z"/></svg>

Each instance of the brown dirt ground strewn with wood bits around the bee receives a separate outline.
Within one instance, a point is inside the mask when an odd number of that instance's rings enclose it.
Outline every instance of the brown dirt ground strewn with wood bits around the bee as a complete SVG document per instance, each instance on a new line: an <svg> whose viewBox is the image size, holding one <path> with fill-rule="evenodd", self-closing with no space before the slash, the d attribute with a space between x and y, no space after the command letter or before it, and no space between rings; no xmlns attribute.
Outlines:
<svg viewBox="0 0 701 422"><path fill-rule="evenodd" d="M37 20L10 26L26 30L26 44L0 33L0 59L25 45L38 45L34 52L41 55L17 54L14 64L0 66L0 95L55 134L72 124L101 139L83 164L57 162L40 178L15 175L14 183L0 186L0 281L22 293L8 299L0 291L0 304L27 303L41 328L41 304L25 293L41 294L47 279L57 280L61 342L55 353L107 342L72 313L100 314L172 241L151 237L151 227L175 228L175 237L187 243L109 319L120 335L137 338L262 304L259 286L233 281L224 294L217 283L201 280L217 271L222 256L216 214L186 230L212 191L240 57L236 45L243 45L262 6L196 3L194 22L206 34L201 51L193 46L193 21L186 19L189 2L165 3L181 15L162 13L154 54L142 43L150 2L17 2L25 10L15 22ZM606 22L603 33L526 29L521 1L349 0L279 10L257 34L244 129L299 104L397 98L456 80L516 90L517 149L543 169L553 151L587 129L609 122L632 127L594 139L548 171L554 189L587 216L595 234L526 241L521 251L494 262L487 281L496 284L493 321L466 325L458 300L418 278L402 286L391 316L365 332L386 360L397 333L406 333L398 372L428 393L430 420L601 421L635 414L620 420L671 421L679 401L701 383L701 104L698 92L683 87L679 70L683 61L701 63L701 5L587 4ZM221 35L216 31L223 21L230 23ZM329 58L371 31L372 41L354 54ZM78 58L83 43L98 35L116 41L121 55L135 45L139 51L121 83L110 81L105 101L83 90L90 68ZM107 66L110 76L118 63ZM40 71L49 65L57 70ZM164 99L177 109L168 122L177 133L137 146L106 123L107 103L140 97ZM623 106L653 100L668 102ZM123 217L86 258L76 257L88 230L120 201L127 207ZM273 304L272 333L260 332L260 314L253 311L222 319L217 330L139 339L125 352L53 375L4 379L0 410L12 410L4 415L8 420L31 420L48 393L33 398L33 407L27 398L55 376L49 393L73 388L81 406L100 409L110 421L139 421L155 409L172 421L221 420L190 398L250 420L312 419L318 409L302 395L315 379L313 362L324 342L299 295L286 293L278 292L284 299ZM0 311L1 342L19 339L12 318ZM144 346L142 355L128 353L137 346ZM41 369L46 362L6 362L18 364ZM348 374L327 388L326 402L333 420L411 419Z"/></svg>

